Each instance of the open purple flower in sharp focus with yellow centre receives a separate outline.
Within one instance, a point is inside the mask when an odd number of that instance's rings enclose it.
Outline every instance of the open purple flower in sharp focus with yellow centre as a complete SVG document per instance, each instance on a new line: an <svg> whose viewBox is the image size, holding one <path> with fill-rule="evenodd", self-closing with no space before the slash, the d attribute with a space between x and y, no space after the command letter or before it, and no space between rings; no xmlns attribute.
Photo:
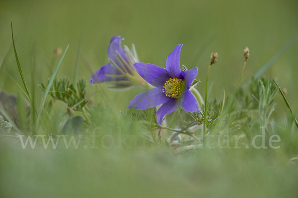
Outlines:
<svg viewBox="0 0 298 198"><path fill-rule="evenodd" d="M189 91L198 68L181 71L181 47L182 45L178 45L168 55L166 69L143 62L134 64L140 76L155 88L137 95L130 101L128 108L144 110L162 104L156 112L158 124L161 124L166 114L175 111L179 106L188 112L200 112L197 100Z"/></svg>

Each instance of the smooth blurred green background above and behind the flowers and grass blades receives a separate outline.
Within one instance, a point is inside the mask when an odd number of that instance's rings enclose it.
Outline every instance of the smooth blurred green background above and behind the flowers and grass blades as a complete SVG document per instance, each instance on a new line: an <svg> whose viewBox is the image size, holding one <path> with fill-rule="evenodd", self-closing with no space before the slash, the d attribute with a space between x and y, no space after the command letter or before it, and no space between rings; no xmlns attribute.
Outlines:
<svg viewBox="0 0 298 198"><path fill-rule="evenodd" d="M38 51L42 49L50 61L53 49L64 50L69 43L77 44L81 34L81 49L94 70L108 62L106 51L115 35L124 37L123 44L127 46L135 44L140 61L162 67L175 46L183 44L181 64L199 68L197 78L202 83L197 89L204 93L210 53L218 50L219 61L210 74L211 97L222 99L223 90L228 94L239 79L243 49L250 49L245 81L297 34L297 10L297 0L0 0L0 55L4 56L11 45L11 21L27 81L33 46ZM202 46L204 50L199 53ZM281 87L287 88L287 97L296 112L297 52L295 42L265 73L277 77ZM58 77L73 77L75 57L76 50L71 45ZM45 66L38 63L37 67ZM13 56L5 70L21 82ZM40 76L43 78L37 82L45 82L49 74ZM80 61L79 78L89 76ZM5 74L0 82L5 90L17 91ZM117 108L126 110L130 99L143 91L138 89L122 92L119 98L124 102L116 102ZM87 90L94 91L91 85ZM128 92L132 94L127 95ZM111 96L114 94L111 92ZM284 116L283 100L278 96L277 101L275 115L278 112Z"/></svg>

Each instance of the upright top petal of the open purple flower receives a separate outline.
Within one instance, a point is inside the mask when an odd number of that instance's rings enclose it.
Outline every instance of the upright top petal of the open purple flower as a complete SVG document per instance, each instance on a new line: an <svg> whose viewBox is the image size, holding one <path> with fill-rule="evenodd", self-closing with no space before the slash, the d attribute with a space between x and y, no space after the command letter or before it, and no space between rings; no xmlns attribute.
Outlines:
<svg viewBox="0 0 298 198"><path fill-rule="evenodd" d="M165 67L172 78L180 78L180 51L182 45L178 45L167 57Z"/></svg>

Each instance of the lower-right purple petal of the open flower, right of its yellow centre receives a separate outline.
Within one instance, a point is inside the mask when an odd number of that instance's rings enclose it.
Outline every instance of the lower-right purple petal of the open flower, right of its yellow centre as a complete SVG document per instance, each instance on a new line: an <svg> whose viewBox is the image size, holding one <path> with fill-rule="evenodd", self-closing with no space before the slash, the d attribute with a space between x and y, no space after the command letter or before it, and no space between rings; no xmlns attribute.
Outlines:
<svg viewBox="0 0 298 198"><path fill-rule="evenodd" d="M184 89L184 93L179 99L181 102L181 107L185 111L192 112L192 113L201 112L198 108L197 100L188 89Z"/></svg>

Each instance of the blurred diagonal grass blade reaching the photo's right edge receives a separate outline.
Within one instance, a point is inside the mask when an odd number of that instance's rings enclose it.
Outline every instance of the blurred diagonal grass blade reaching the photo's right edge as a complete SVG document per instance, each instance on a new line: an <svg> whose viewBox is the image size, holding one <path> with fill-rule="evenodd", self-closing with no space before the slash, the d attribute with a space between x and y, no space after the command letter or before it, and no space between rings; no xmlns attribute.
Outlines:
<svg viewBox="0 0 298 198"><path fill-rule="evenodd" d="M282 48L280 49L255 75L254 78L259 78L269 67L298 39L298 33Z"/></svg>

